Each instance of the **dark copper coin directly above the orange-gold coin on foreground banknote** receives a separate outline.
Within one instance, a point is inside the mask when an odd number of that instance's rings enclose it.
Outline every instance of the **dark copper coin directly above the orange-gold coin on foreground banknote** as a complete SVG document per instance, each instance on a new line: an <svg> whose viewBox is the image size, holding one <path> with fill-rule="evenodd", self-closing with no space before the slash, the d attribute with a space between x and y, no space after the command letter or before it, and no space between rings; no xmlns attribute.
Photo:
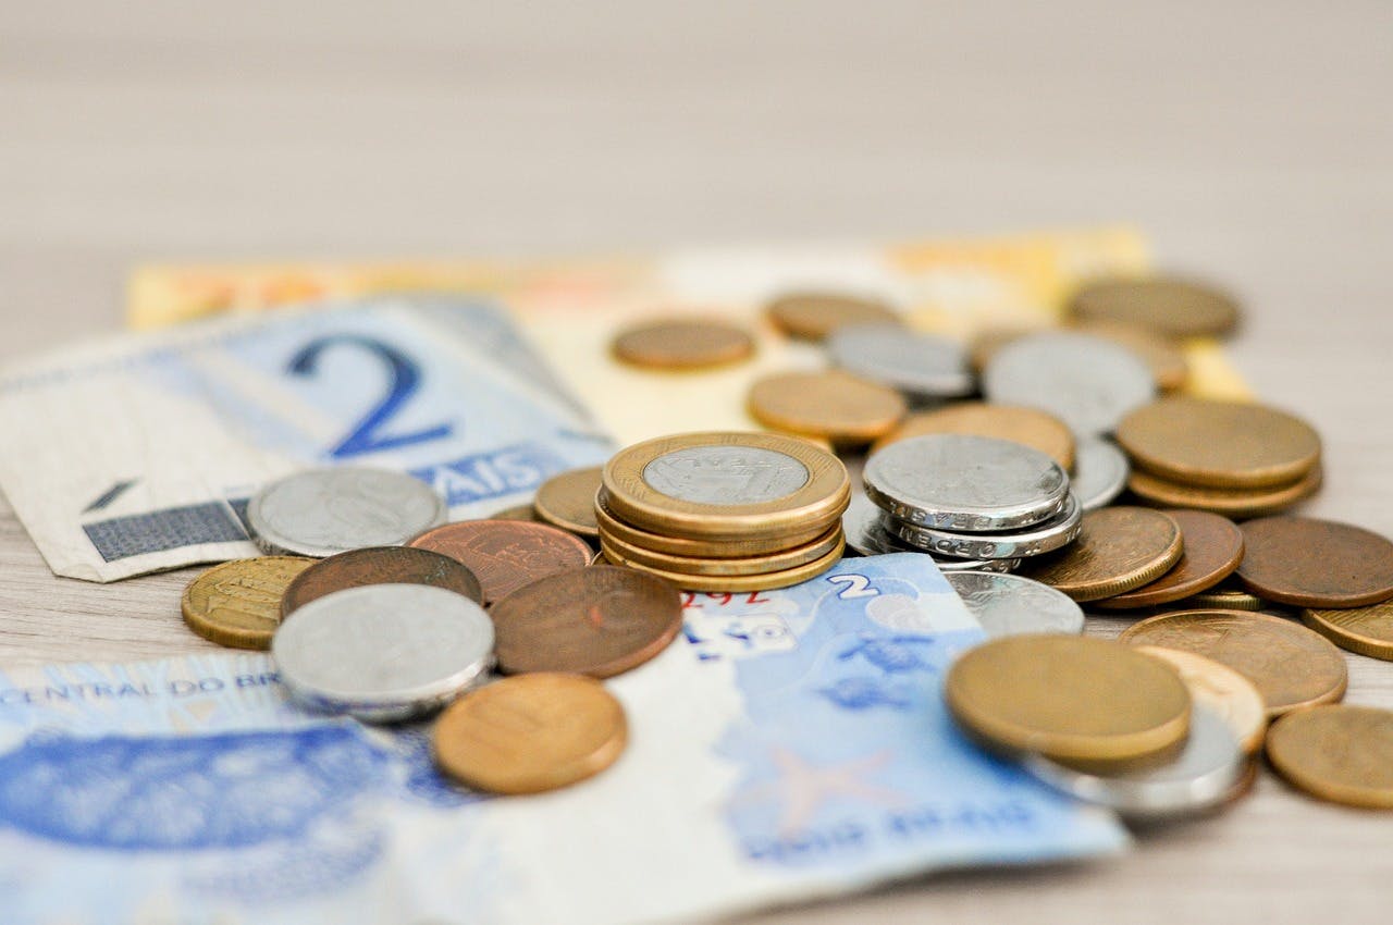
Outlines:
<svg viewBox="0 0 1393 925"><path fill-rule="evenodd" d="M589 566L518 588L489 612L499 670L610 677L662 652L683 625L677 588L655 575Z"/></svg>

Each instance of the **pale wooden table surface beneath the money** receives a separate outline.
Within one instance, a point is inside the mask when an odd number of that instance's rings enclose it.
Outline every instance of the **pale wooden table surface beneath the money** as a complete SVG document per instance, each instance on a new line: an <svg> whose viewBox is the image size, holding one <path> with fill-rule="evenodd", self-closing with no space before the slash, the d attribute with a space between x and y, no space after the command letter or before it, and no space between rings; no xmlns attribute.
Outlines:
<svg viewBox="0 0 1393 925"><path fill-rule="evenodd" d="M1123 219L1244 297L1240 369L1326 442L1307 511L1393 535L1387 3L546 6L3 4L0 358L117 330L150 258ZM0 663L205 648L176 616L188 573L57 580L8 507L0 575ZM1350 656L1347 699L1393 706L1393 663ZM1393 814L1265 773L1119 860L748 921L1343 925L1390 900Z"/></svg>

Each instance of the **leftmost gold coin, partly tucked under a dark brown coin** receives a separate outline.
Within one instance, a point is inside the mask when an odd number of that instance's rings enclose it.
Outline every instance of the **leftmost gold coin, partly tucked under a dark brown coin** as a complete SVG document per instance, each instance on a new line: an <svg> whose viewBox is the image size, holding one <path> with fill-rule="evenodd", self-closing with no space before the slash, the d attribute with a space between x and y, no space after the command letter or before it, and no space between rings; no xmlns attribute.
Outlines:
<svg viewBox="0 0 1393 925"><path fill-rule="evenodd" d="M237 649L269 649L280 625L280 599L316 559L260 556L213 566L184 589L188 628Z"/></svg>

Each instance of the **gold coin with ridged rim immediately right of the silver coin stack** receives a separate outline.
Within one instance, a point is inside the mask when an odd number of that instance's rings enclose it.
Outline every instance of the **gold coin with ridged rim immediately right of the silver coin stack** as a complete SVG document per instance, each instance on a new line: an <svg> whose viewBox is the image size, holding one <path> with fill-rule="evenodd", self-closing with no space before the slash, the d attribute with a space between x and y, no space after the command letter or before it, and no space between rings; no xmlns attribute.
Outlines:
<svg viewBox="0 0 1393 925"><path fill-rule="evenodd" d="M1180 561L1180 524L1149 507L1103 507L1084 514L1078 539L1028 563L1027 578L1074 600L1099 600L1160 578Z"/></svg>

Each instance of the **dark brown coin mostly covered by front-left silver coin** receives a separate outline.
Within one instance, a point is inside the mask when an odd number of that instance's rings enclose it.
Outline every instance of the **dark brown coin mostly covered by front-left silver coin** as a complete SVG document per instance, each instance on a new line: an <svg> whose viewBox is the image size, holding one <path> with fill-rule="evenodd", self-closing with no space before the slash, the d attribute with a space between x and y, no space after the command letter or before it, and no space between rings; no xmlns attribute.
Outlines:
<svg viewBox="0 0 1393 925"><path fill-rule="evenodd" d="M299 573L280 599L280 616L316 598L364 585L430 585L483 603L479 580L449 556L410 546L368 546L320 559Z"/></svg>

